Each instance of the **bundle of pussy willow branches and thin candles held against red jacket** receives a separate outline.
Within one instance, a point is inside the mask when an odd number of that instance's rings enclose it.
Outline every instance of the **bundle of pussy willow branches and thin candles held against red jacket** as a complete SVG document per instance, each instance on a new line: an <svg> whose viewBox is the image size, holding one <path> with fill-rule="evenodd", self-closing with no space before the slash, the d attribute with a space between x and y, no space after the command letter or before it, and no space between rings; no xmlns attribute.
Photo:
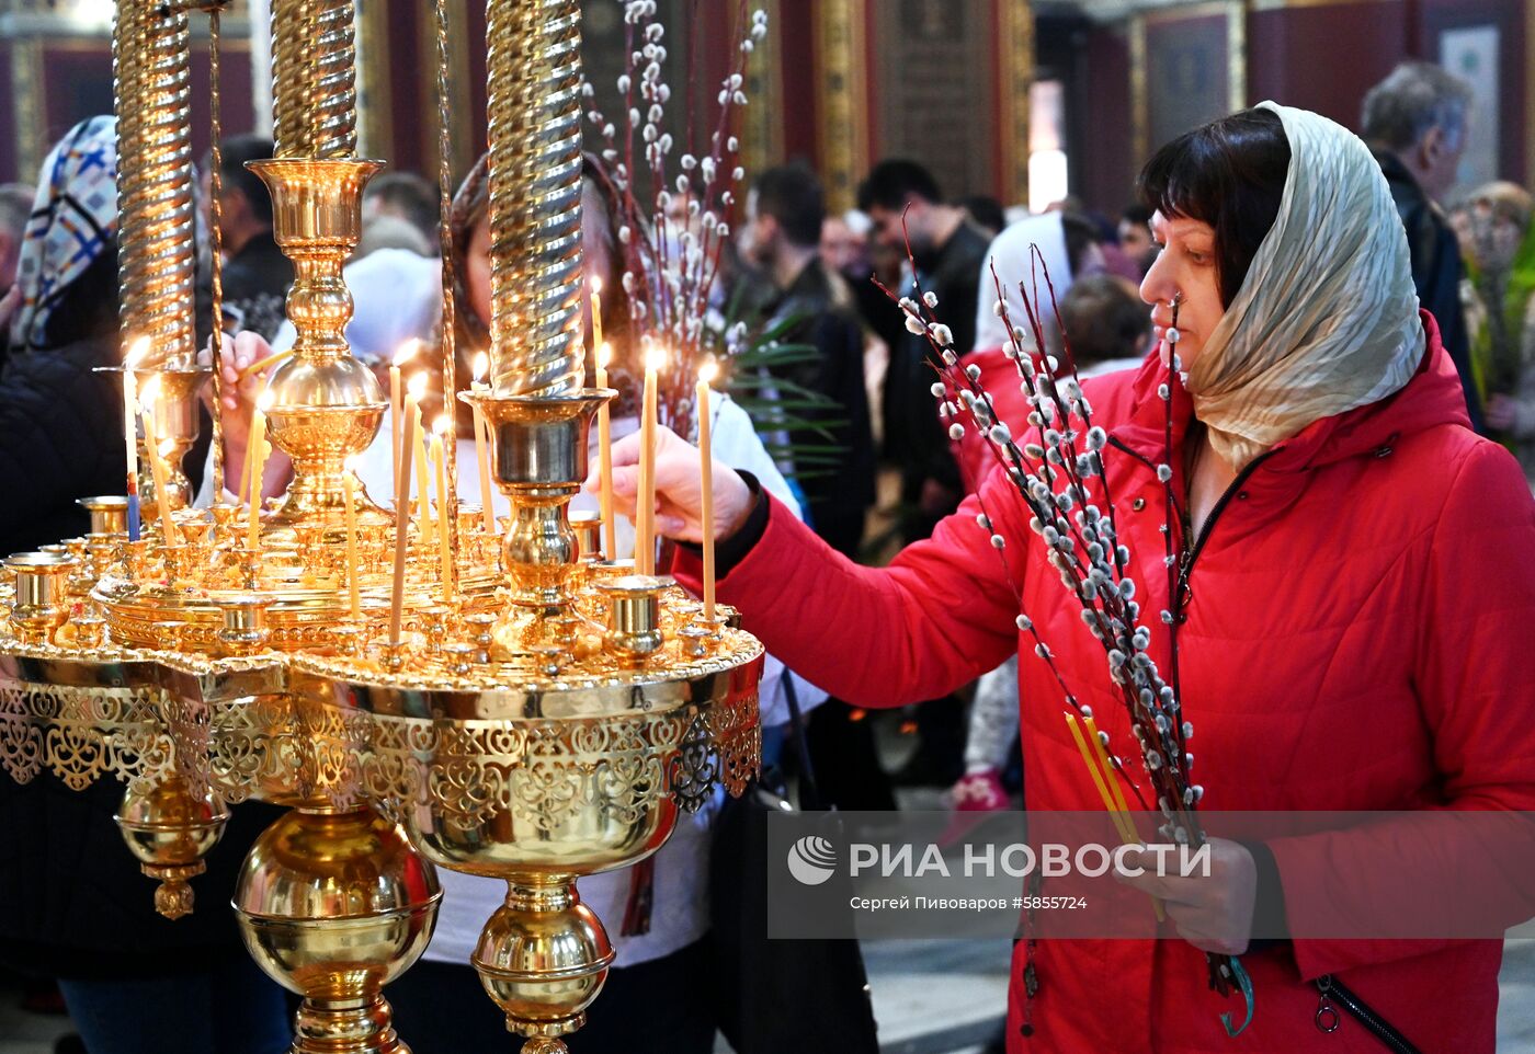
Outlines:
<svg viewBox="0 0 1535 1054"><path fill-rule="evenodd" d="M1055 291L1050 288L1050 276L1044 268L1038 247L1033 249L1033 256L1053 302ZM1008 333L1004 354L1016 368L1018 382L1028 405L1027 428L1032 436L1022 445L1015 440L1012 427L998 419L992 396L981 382L979 367L959 364L953 336L935 315L938 299L930 291L924 293L921 287L916 288L915 296L907 298L896 296L887 288L884 291L898 302L906 316L906 328L926 338L933 351L938 380L933 382L932 390L938 400L939 417L950 422L950 439L959 442L967 431L972 431L984 440L1002 465L1007 479L1032 514L1030 529L1044 542L1045 558L1059 572L1065 591L1079 601L1082 621L1102 646L1108 678L1130 718L1130 730L1137 746L1136 753L1151 786L1153 802L1148 802L1142 795L1125 759L1108 749L1110 738L1098 729L1091 707L1079 703L1076 693L1067 686L1055 663L1050 644L1042 640L1033 620L1022 611L1022 597L1019 595L1018 627L1033 638L1035 654L1048 666L1065 703L1071 707L1065 715L1067 724L1104 807L1114 818L1116 832L1127 844L1141 841L1121 790L1121 784L1124 784L1134 793L1142 810L1150 812L1154 807L1160 813L1157 830L1162 838L1197 848L1205 841L1196 815L1203 787L1190 779L1193 755L1188 752L1187 743L1193 735L1193 726L1182 716L1176 690L1176 620L1171 612L1160 612L1160 624L1171 638L1173 677L1170 683L1162 677L1150 654L1151 627L1142 620L1141 604L1134 600L1136 583L1131 577L1131 554L1121 540L1111 500L1113 489L1102 457L1108 436L1093 423L1091 405L1082 393L1074 365L1070 365L1073 357L1068 334L1062 333L1061 357L1068 364L1062 370L1059 359L1045 351L1038 284L1035 296L1030 296L1022 282L1018 285L1027 315L1027 331L1016 327L1008 318L1007 298L995 272L993 285L996 311ZM1165 431L1168 440L1162 463L1157 466L1157 479L1167 488L1171 488L1173 480L1168 466L1173 434L1171 391L1173 385L1179 384L1176 310L1174 305L1174 324L1165 338L1173 345L1165 348L1168 377L1159 390L1167 405L1168 427ZM1059 313L1055 318L1059 319ZM1171 499L1171 492L1168 497ZM1171 517L1174 502L1168 500L1167 508ZM1027 540L1004 539L996 534L984 505L978 523L990 534L992 546L1002 558L1004 574L1012 581L1013 575L1002 552L1007 545L1024 545ZM1168 546L1165 562L1171 577L1177 566L1177 554L1173 546L1174 539L1179 537L1171 522L1165 525L1165 537ZM1082 735L1078 720L1085 726L1087 736ZM1162 907L1156 905L1156 908L1157 917L1162 919ZM1207 954L1207 960L1216 991L1225 996L1236 985L1243 996L1249 996L1246 974L1234 956ZM1226 1020L1226 1026L1231 1028L1230 1020Z"/></svg>

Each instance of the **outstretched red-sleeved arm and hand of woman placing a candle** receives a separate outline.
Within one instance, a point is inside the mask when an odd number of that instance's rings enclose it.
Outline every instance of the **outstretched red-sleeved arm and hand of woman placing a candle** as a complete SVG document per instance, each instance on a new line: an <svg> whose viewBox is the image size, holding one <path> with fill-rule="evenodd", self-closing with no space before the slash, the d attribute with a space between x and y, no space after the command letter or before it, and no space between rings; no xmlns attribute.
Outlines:
<svg viewBox="0 0 1535 1054"><path fill-rule="evenodd" d="M632 514L639 437L617 443L614 497ZM596 480L588 486L596 486ZM701 540L698 451L659 431L657 529ZM766 503L766 505L760 505ZM976 517L981 506L995 531ZM864 568L835 552L740 474L714 465L715 535L746 529L754 540L720 581L720 600L743 624L818 687L855 706L901 706L936 698L993 669L1018 647L1022 545L1030 537L1012 483L993 473L933 537L907 546L889 568ZM1008 539L996 549L992 535ZM701 566L682 551L674 568L697 589Z"/></svg>

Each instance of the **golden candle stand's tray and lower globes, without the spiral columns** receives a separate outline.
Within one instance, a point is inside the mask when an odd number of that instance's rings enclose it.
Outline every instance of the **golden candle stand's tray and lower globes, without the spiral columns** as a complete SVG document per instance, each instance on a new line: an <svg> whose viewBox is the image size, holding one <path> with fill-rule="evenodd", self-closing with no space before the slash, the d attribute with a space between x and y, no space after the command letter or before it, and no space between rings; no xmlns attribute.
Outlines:
<svg viewBox="0 0 1535 1054"><path fill-rule="evenodd" d="M579 430L599 397L485 396L508 443L502 489L534 488L543 503L519 506L503 546L464 509L465 549L503 549L508 589L497 565L471 566L479 578L467 574L444 604L441 583L419 574L399 644L385 635L384 560L355 623L342 585L286 546L261 552L247 589L238 520L184 532L201 537L181 546L112 535L84 597L71 591L69 546L8 562L0 764L18 781L46 767L77 789L124 779L118 821L163 882L164 913L190 910L187 879L223 802L293 807L247 856L235 905L256 960L304 996L295 1049L404 1049L379 991L430 939L431 864L508 882L474 967L530 1049L560 1049L612 957L574 879L643 859L678 807L721 782L738 793L757 767L760 644L700 629L698 604L666 580L579 558L565 500L585 465L580 437L579 459L514 451L527 440L546 453L550 431ZM534 482L519 465L546 474ZM178 523L210 523L200 515ZM178 565L193 545L198 557Z"/></svg>

